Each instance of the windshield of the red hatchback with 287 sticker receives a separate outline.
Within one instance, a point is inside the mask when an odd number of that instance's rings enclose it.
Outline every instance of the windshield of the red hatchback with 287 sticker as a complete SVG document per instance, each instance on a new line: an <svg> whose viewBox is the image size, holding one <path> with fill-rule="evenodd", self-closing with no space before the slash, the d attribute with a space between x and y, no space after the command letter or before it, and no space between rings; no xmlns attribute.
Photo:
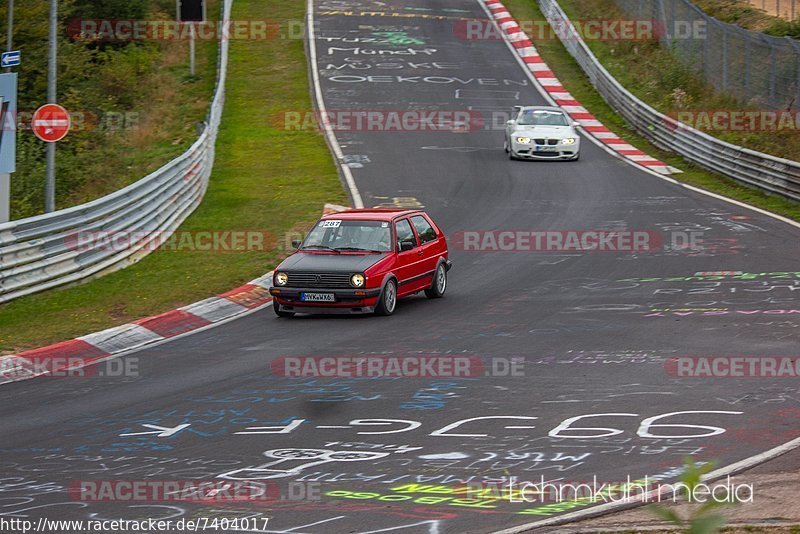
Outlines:
<svg viewBox="0 0 800 534"><path fill-rule="evenodd" d="M389 252L392 232L385 221L319 221L302 248L333 249L344 252Z"/></svg>

